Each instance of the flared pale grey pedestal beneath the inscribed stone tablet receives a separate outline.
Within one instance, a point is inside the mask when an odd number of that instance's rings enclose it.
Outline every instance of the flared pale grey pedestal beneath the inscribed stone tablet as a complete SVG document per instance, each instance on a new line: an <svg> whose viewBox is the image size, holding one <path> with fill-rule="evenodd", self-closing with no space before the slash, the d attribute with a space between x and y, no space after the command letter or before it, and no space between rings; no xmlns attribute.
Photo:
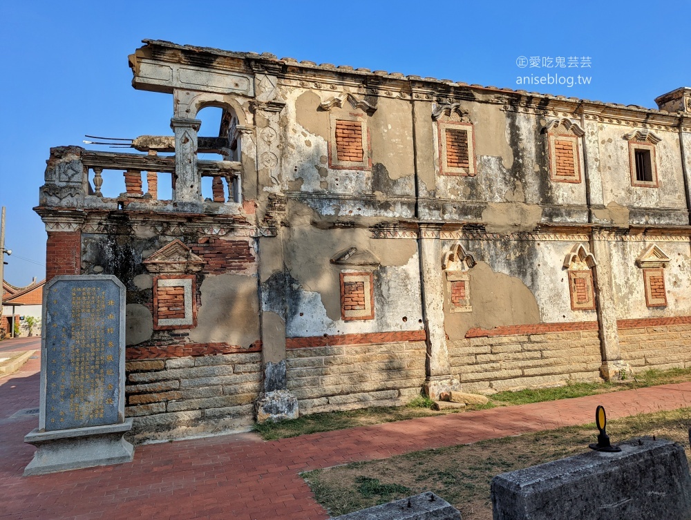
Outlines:
<svg viewBox="0 0 691 520"><path fill-rule="evenodd" d="M39 432L32 430L24 442L38 450L24 469L24 475L41 475L122 462L131 462L134 447L123 435L132 428L132 419L124 423Z"/></svg>

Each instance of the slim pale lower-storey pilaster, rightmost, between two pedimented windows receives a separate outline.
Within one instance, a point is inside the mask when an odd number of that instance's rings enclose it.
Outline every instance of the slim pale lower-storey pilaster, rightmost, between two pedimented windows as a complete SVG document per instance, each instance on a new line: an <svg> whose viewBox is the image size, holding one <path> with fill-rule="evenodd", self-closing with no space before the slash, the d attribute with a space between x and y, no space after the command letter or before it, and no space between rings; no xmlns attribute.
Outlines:
<svg viewBox="0 0 691 520"><path fill-rule="evenodd" d="M590 250L597 262L593 268L593 282L598 313L600 354L603 360L603 364L600 366L600 375L605 381L621 378L622 372L630 373L631 371L628 363L621 360L608 237L609 233L607 232L594 231L590 241Z"/></svg>

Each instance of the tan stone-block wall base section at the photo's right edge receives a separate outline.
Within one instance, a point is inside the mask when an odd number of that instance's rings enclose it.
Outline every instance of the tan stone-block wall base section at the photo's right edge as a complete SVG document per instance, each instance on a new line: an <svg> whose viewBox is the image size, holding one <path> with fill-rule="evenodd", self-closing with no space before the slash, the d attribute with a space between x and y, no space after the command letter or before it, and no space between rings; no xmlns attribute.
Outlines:
<svg viewBox="0 0 691 520"><path fill-rule="evenodd" d="M639 323L620 325L621 358L631 365L634 374L652 368L691 367L691 319L685 320L688 323L680 323L682 320L663 318L656 320L658 324L652 320L636 320ZM628 328L623 328L627 325Z"/></svg>

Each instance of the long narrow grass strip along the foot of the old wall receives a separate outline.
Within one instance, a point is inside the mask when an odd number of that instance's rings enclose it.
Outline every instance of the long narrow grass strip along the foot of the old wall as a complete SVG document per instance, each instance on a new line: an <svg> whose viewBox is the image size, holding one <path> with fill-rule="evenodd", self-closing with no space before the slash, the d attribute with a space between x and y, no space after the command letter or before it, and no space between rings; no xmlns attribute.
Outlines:
<svg viewBox="0 0 691 520"><path fill-rule="evenodd" d="M562 387L527 389L518 392L499 392L490 397L486 405L469 405L461 410L431 410L433 401L424 396L414 398L406 406L371 407L345 412L323 412L302 416L291 421L276 421L256 424L254 431L265 441L283 439L318 432L343 430L357 426L367 426L393 421L404 421L419 417L444 415L450 413L464 413L473 410L486 410L495 406L525 405L542 401L556 401L573 397L606 394L618 390L666 385L691 381L691 368L674 368L669 370L648 370L620 383L572 383Z"/></svg>

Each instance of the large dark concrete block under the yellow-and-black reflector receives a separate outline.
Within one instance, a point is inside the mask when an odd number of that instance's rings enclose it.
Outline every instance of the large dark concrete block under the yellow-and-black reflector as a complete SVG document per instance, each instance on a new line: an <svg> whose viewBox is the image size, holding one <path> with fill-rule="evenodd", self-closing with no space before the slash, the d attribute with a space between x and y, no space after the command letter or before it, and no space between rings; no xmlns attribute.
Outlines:
<svg viewBox="0 0 691 520"><path fill-rule="evenodd" d="M648 437L619 447L495 476L493 519L691 519L683 447Z"/></svg>

